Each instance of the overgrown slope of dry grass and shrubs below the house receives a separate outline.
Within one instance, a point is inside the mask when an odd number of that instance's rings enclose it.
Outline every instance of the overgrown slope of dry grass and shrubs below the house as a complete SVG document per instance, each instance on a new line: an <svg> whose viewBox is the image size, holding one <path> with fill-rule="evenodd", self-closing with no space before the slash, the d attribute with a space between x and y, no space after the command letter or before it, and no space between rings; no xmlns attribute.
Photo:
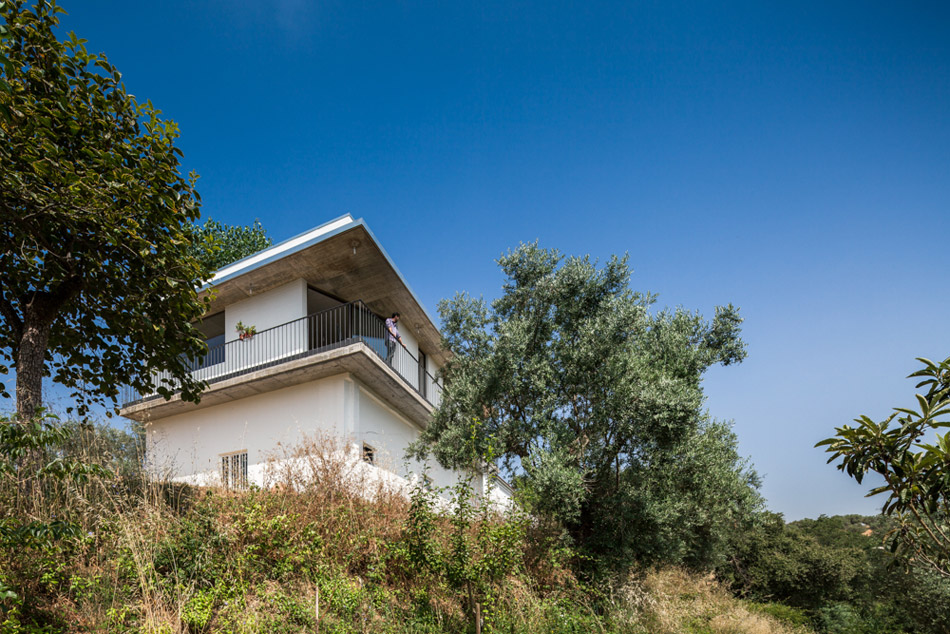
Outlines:
<svg viewBox="0 0 950 634"><path fill-rule="evenodd" d="M116 430L67 426L59 439L58 475L4 471L5 634L461 633L475 631L476 604L483 632L809 631L802 612L683 569L582 581L554 527L479 508L464 487L440 514L430 492L360 479L325 439L299 449L303 468L245 492L147 484L135 437Z"/></svg>

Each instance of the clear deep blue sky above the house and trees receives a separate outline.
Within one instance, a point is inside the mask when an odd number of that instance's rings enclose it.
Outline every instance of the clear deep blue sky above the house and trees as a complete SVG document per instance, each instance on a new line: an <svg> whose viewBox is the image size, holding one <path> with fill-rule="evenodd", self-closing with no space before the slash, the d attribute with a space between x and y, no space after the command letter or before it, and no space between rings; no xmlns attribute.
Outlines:
<svg viewBox="0 0 950 634"><path fill-rule="evenodd" d="M873 512L812 445L950 354L942 2L66 2L181 125L204 213L282 240L367 220L435 312L519 241L711 315L708 375L789 519ZM781 6L770 6L778 5Z"/></svg>

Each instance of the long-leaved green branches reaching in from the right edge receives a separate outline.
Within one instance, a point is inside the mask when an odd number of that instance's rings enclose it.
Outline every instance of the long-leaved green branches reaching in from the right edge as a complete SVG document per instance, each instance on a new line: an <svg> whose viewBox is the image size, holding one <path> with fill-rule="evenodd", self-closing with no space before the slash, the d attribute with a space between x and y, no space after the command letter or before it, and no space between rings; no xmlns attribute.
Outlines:
<svg viewBox="0 0 950 634"><path fill-rule="evenodd" d="M919 358L923 368L908 378L920 379L918 409L894 408L881 422L868 416L856 427L838 427L819 442L838 461L838 469L862 482L876 473L884 484L868 496L885 494L882 512L897 520L891 549L911 564L950 577L950 358L940 363Z"/></svg>

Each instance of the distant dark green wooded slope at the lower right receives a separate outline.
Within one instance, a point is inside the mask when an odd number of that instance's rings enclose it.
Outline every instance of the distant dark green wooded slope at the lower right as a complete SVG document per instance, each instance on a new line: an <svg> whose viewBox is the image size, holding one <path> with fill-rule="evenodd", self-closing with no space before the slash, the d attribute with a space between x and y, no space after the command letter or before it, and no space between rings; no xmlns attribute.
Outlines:
<svg viewBox="0 0 950 634"><path fill-rule="evenodd" d="M895 566L882 547L893 525L858 515L784 524L763 513L736 531L717 574L741 596L804 610L820 632L948 634L950 581Z"/></svg>

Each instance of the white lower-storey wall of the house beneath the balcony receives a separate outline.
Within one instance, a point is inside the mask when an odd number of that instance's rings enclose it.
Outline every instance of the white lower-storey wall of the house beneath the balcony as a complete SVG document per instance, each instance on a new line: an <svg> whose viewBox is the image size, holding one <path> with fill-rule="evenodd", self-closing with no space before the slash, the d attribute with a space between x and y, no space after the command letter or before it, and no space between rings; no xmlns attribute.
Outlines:
<svg viewBox="0 0 950 634"><path fill-rule="evenodd" d="M372 447L375 466L359 467L370 470L368 477L375 472L405 486L426 472L433 487L455 485L463 474L435 461L426 471L426 465L405 458L419 432L353 376L340 374L147 423L146 452L155 478L215 485L221 484L221 456L246 451L249 481L268 486L273 484L268 461L285 459L305 440L323 436L353 448L351 456L362 456L364 443ZM507 504L506 487L486 487L489 478L474 479L476 493L488 488L496 503Z"/></svg>

